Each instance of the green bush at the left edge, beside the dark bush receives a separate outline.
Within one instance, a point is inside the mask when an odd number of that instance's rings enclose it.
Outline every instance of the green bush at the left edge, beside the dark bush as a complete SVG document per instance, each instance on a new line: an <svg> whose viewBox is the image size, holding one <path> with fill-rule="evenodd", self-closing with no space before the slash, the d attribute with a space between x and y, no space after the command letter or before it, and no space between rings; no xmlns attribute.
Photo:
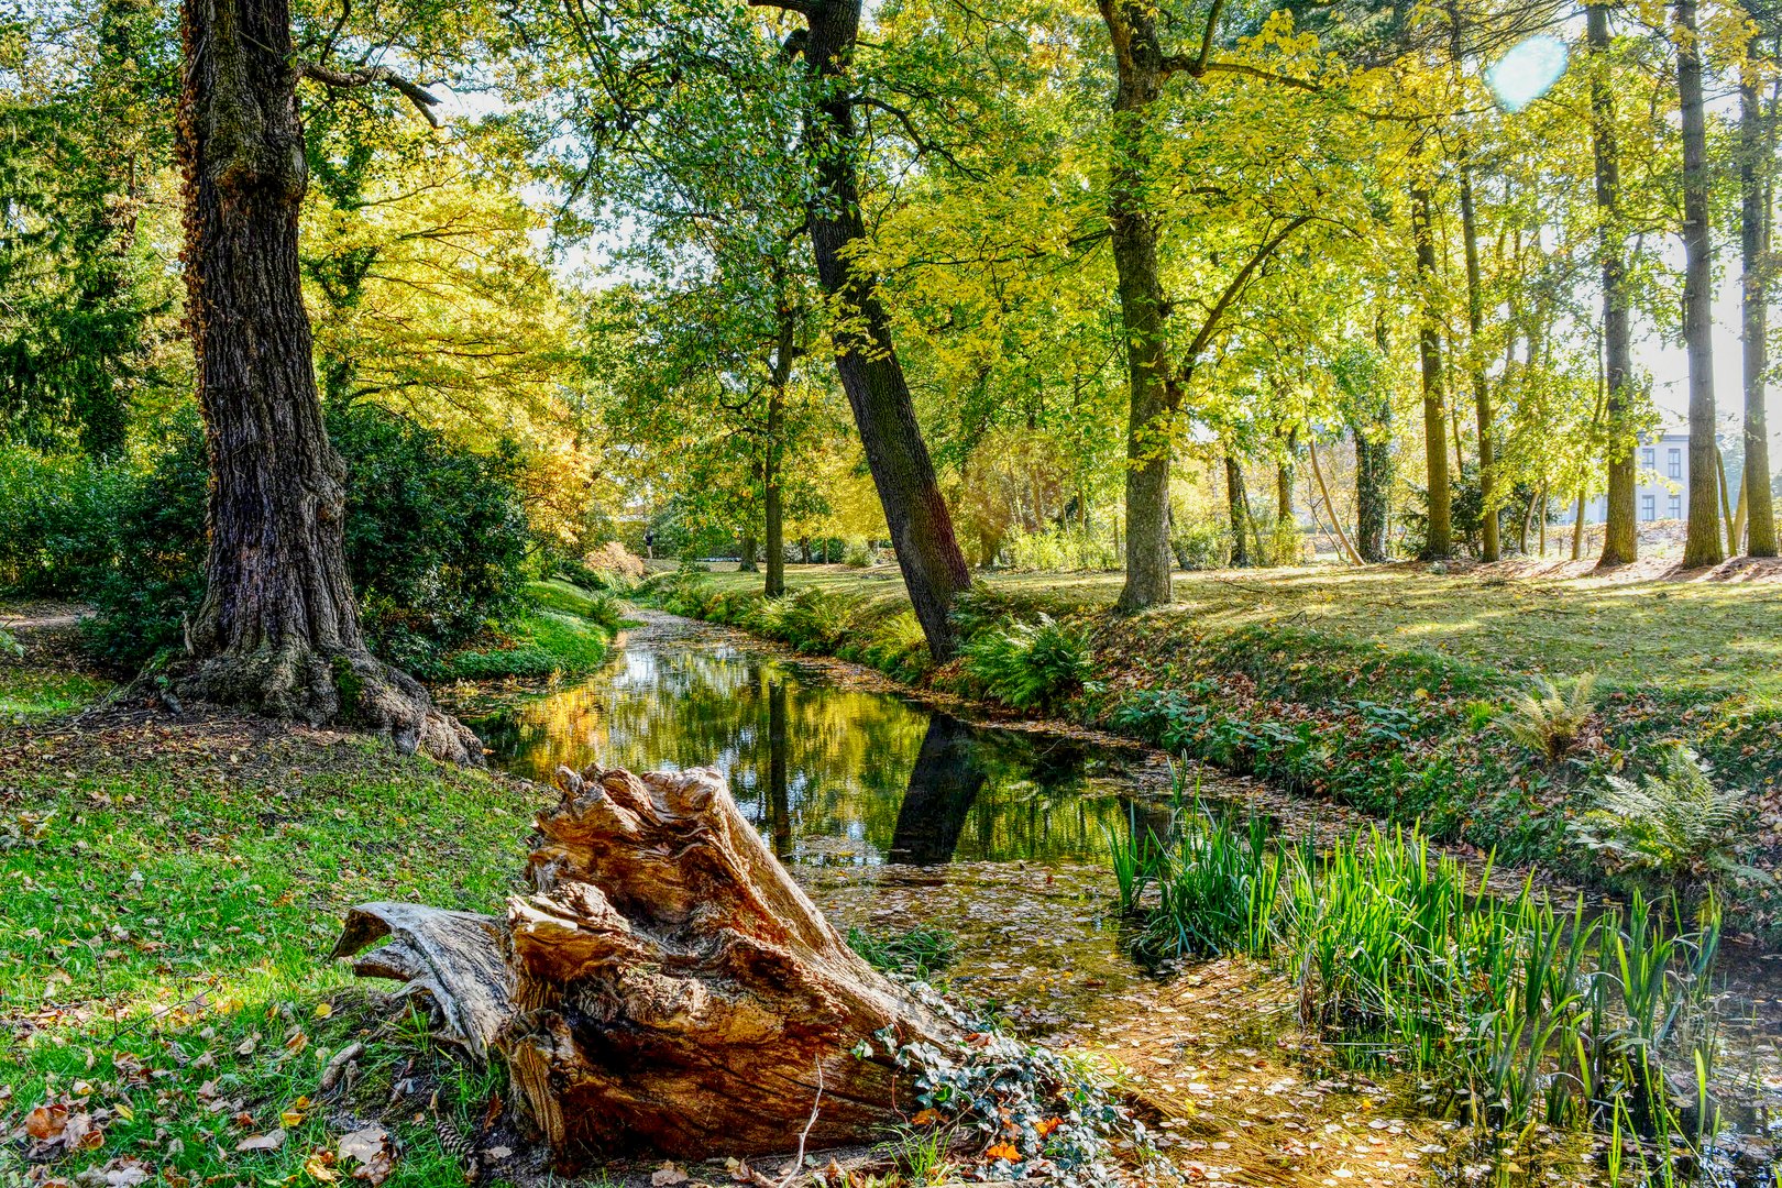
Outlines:
<svg viewBox="0 0 1782 1188"><path fill-rule="evenodd" d="M0 445L0 590L91 590L112 566L112 527L137 481L125 463Z"/></svg>

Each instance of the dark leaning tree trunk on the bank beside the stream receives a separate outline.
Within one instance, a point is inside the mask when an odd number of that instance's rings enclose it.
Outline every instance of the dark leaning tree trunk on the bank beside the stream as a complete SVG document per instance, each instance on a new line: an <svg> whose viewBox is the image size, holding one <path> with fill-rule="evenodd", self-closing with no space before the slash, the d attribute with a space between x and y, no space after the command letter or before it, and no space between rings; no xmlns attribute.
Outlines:
<svg viewBox="0 0 1782 1188"><path fill-rule="evenodd" d="M811 5L805 20L809 37L804 57L825 94L822 110L807 125L818 183L809 205L811 251L823 290L839 306L834 322L836 370L854 408L911 606L928 639L928 652L944 661L957 647L948 613L953 597L971 586L971 572L959 552L953 518L916 422L909 381L891 342L891 319L879 299L879 278L852 260L854 249L866 239L850 80L861 0Z"/></svg>

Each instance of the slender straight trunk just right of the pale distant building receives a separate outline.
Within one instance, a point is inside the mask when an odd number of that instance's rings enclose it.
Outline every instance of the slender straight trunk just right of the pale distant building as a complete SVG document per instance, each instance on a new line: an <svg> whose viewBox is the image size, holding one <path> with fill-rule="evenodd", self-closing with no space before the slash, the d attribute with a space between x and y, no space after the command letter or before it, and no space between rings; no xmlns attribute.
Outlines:
<svg viewBox="0 0 1782 1188"><path fill-rule="evenodd" d="M1720 534L1714 443L1714 244L1707 212L1707 110L1695 0L1677 0L1677 102L1682 109L1682 337L1689 353L1689 525L1686 568L1727 559Z"/></svg>

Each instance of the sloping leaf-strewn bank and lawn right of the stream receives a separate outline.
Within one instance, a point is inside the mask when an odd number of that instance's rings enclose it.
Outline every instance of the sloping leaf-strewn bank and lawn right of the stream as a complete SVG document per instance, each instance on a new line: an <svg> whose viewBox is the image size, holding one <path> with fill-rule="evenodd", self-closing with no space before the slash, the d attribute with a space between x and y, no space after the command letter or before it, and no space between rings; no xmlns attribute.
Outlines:
<svg viewBox="0 0 1782 1188"><path fill-rule="evenodd" d="M1713 876L1732 926L1775 944L1782 584L1771 568L1192 574L1176 606L1139 616L1112 613L1117 575L1007 575L964 600L960 625L969 639L1044 614L1078 639L1083 679L1051 716L1618 892ZM969 643L964 661L927 663L895 570L813 566L788 581L791 598L775 607L748 574L663 574L645 593L918 689L985 696ZM1586 673L1590 712L1565 753L1536 753L1504 728L1536 677L1565 686ZM1686 821L1663 818L1634 821L1629 848L1593 846L1579 823L1604 805L1609 777L1643 778L1672 741L1741 794L1729 821L1693 832L1693 851L1666 837Z"/></svg>

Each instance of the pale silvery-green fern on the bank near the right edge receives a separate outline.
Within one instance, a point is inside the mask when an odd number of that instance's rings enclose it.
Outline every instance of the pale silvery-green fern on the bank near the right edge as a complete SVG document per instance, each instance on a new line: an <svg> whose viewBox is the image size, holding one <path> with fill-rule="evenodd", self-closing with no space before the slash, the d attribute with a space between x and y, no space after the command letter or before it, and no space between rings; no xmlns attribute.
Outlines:
<svg viewBox="0 0 1782 1188"><path fill-rule="evenodd" d="M1736 860L1745 789L1714 787L1714 771L1682 743L1661 748L1639 782L1606 777L1597 807L1572 823L1572 837L1609 873L1663 887L1714 887L1725 880L1771 882Z"/></svg>

